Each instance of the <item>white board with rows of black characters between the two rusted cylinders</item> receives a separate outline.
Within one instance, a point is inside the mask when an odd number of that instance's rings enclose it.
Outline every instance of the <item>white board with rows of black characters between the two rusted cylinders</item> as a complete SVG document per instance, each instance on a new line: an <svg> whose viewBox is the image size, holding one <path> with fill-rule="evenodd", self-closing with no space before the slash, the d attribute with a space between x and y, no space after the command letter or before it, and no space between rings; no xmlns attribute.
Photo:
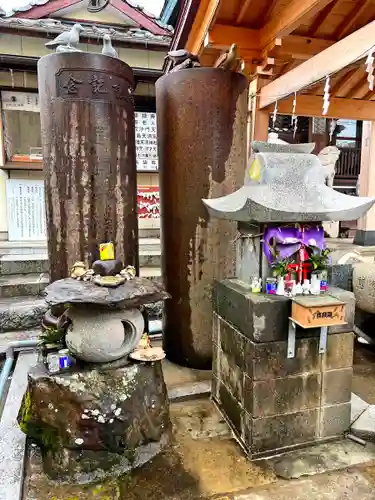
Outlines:
<svg viewBox="0 0 375 500"><path fill-rule="evenodd" d="M156 113L135 113L137 170L158 170Z"/></svg>

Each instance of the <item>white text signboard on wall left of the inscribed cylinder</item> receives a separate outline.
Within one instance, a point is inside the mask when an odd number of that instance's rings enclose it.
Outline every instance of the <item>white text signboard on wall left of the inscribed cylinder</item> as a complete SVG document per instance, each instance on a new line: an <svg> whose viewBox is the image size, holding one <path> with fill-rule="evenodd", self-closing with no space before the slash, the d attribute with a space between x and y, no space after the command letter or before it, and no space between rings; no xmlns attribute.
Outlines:
<svg viewBox="0 0 375 500"><path fill-rule="evenodd" d="M9 241L46 240L44 182L7 180Z"/></svg>

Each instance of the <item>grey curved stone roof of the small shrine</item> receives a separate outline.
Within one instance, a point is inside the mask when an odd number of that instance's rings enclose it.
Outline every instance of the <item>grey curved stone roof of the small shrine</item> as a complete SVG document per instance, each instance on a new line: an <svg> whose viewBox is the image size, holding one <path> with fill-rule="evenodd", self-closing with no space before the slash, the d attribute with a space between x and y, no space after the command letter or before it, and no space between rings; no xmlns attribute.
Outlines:
<svg viewBox="0 0 375 500"><path fill-rule="evenodd" d="M254 153L254 159L257 180L227 196L203 200L211 216L261 223L356 220L375 203L375 198L326 186L325 169L313 154Z"/></svg>

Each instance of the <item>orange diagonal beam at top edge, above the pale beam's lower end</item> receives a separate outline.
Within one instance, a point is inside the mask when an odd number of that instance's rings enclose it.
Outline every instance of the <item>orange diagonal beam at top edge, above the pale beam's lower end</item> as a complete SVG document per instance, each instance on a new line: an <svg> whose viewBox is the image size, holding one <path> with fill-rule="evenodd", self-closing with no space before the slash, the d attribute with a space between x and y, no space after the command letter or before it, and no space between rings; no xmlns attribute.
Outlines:
<svg viewBox="0 0 375 500"><path fill-rule="evenodd" d="M274 38L289 35L306 19L311 18L333 0L291 0L261 29L261 46L269 44Z"/></svg>

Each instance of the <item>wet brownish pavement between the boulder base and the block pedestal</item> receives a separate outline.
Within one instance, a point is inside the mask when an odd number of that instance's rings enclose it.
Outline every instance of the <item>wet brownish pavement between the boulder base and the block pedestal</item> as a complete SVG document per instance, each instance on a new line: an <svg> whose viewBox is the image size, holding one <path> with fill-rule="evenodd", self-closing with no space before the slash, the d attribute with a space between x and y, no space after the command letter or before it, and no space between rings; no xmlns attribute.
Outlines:
<svg viewBox="0 0 375 500"><path fill-rule="evenodd" d="M194 500L270 484L276 476L249 462L208 399L171 405L173 445L119 481L94 486L57 485L41 469L32 449L24 499L27 500Z"/></svg>

